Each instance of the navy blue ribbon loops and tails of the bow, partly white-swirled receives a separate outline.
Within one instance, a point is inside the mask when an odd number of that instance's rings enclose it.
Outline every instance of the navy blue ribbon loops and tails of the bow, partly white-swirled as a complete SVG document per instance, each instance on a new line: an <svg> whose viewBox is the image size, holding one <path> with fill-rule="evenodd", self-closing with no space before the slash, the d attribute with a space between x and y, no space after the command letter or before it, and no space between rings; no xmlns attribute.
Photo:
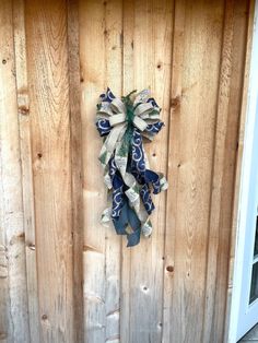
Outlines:
<svg viewBox="0 0 258 343"><path fill-rule="evenodd" d="M102 113L103 107L112 108L113 100L115 95L109 88L106 93L99 96L99 103L97 105L97 114ZM128 159L126 172L131 174L139 186L139 193L141 202L144 206L145 212L150 215L154 210L154 204L151 198L151 193L157 194L163 190L163 185L161 184L161 175L156 174L153 170L146 168L146 158L143 150L143 140L142 137L146 134L149 139L152 139L155 134L160 132L164 123L157 120L149 120L143 132L139 130L132 123L134 116L134 110L141 104L134 104L131 100L131 96L122 97L122 102L127 108L127 120L128 129L125 133L128 140ZM159 108L154 98L148 98L145 103L150 103L153 108ZM114 114L116 115L116 114ZM129 117L130 116L130 117ZM98 116L96 120L96 128L101 137L105 139L109 135L113 130L110 126L108 116ZM140 241L141 236L141 221L138 217L138 214L130 204L130 201L126 194L128 186L125 184L125 180L119 172L119 168L115 162L116 150L113 152L108 161L108 175L112 182L112 220L116 232L118 235L127 235L128 247L132 247ZM129 230L128 228L131 228Z"/></svg>

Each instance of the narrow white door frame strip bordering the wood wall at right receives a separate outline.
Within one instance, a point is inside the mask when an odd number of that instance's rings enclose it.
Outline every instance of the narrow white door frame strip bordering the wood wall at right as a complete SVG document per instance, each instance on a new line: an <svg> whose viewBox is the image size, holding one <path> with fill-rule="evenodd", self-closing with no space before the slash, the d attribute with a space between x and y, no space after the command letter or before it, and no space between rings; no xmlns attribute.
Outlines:
<svg viewBox="0 0 258 343"><path fill-rule="evenodd" d="M256 106L258 99L258 0L255 5L254 34L250 55L249 84L247 93L247 115L245 123L244 152L241 170L241 189L237 213L237 228L235 241L235 261L233 275L233 291L230 314L228 343L235 343L237 338L238 314L241 308L242 281L245 258L245 236L248 215L248 188L251 172L253 142L256 122ZM258 319L257 319L258 321Z"/></svg>

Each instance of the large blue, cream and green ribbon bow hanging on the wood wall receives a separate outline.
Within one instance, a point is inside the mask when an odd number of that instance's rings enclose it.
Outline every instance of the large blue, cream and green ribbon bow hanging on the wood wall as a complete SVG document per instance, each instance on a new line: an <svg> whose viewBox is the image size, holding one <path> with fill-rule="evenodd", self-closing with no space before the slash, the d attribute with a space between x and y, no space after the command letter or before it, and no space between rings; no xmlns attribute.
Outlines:
<svg viewBox="0 0 258 343"><path fill-rule="evenodd" d="M150 170L142 137L152 141L164 123L161 108L150 91L136 91L120 98L109 88L99 96L96 127L104 137L99 161L112 205L103 212L102 222L113 220L118 235L127 235L128 247L152 233L149 218L154 210L151 191L167 189L163 174Z"/></svg>

